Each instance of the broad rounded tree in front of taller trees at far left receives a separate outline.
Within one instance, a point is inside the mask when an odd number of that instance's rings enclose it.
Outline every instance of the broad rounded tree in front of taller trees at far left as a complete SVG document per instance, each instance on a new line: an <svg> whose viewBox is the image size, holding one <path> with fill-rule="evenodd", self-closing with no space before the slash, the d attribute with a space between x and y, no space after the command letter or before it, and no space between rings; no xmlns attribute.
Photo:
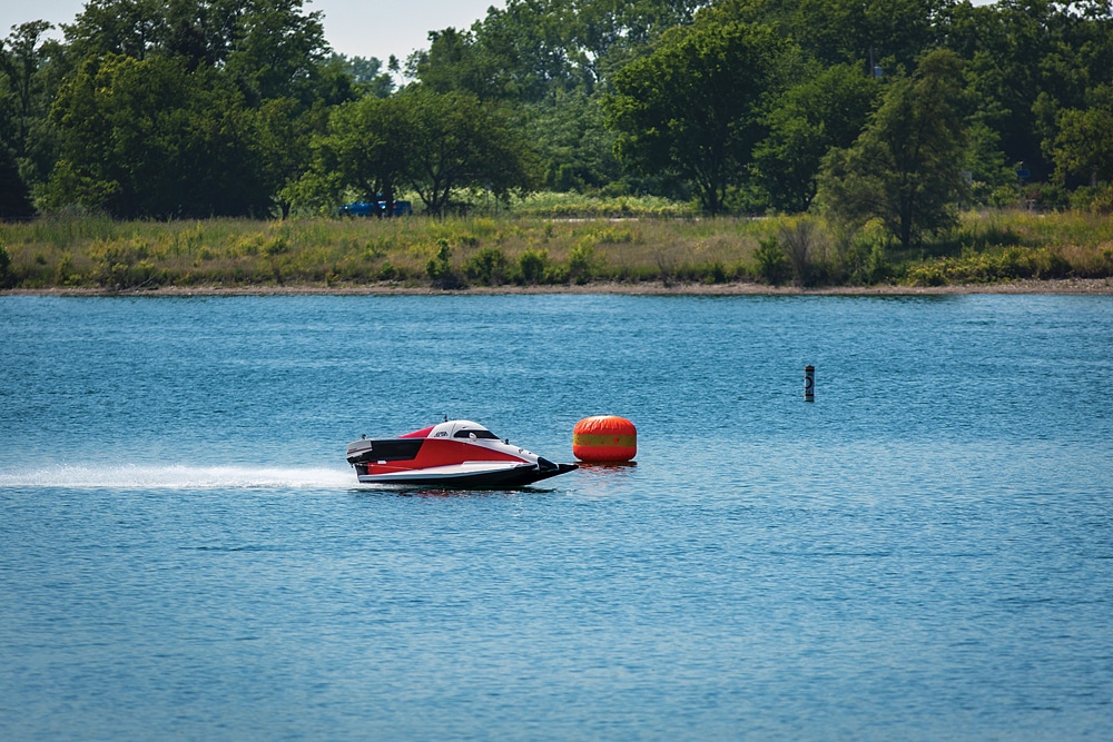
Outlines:
<svg viewBox="0 0 1113 742"><path fill-rule="evenodd" d="M51 111L62 158L55 206L77 201L116 217L265 215L270 194L253 157L238 91L178 59L87 60Z"/></svg>

